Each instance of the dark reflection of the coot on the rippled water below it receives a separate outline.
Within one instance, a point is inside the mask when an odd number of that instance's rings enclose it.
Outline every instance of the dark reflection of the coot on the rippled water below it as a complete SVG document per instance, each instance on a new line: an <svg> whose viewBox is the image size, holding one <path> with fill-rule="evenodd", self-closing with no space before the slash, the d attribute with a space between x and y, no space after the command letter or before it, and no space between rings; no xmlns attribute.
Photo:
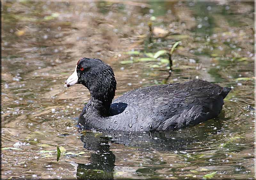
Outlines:
<svg viewBox="0 0 256 180"><path fill-rule="evenodd" d="M204 127L200 128L202 125ZM199 127L200 126L200 127ZM216 128L208 128L214 126ZM81 136L86 150L93 151L90 163L78 164L77 179L114 179L115 154L110 150L109 143L136 146L140 152L155 149L157 151L192 150L194 142L204 141L208 134L217 134L221 130L221 121L217 119L205 124L188 127L182 131L125 132L87 131Z"/></svg>

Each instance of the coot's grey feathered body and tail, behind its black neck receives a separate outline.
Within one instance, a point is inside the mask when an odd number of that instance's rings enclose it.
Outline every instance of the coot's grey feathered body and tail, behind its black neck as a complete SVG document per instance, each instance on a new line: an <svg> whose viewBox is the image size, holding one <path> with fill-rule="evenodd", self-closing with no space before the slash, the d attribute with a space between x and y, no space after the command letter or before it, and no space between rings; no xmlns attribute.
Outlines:
<svg viewBox="0 0 256 180"><path fill-rule="evenodd" d="M108 121L116 130L182 128L216 117L229 90L202 80L139 88L113 101Z"/></svg>

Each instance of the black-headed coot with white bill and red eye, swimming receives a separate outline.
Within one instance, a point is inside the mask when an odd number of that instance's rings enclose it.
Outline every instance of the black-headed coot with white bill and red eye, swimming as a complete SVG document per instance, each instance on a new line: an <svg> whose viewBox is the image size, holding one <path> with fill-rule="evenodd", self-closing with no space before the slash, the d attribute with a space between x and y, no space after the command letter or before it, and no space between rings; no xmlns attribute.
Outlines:
<svg viewBox="0 0 256 180"><path fill-rule="evenodd" d="M180 129L218 116L230 91L207 81L193 80L139 88L113 100L116 79L112 68L100 59L89 58L79 59L64 87L77 83L91 93L79 116L81 129Z"/></svg>

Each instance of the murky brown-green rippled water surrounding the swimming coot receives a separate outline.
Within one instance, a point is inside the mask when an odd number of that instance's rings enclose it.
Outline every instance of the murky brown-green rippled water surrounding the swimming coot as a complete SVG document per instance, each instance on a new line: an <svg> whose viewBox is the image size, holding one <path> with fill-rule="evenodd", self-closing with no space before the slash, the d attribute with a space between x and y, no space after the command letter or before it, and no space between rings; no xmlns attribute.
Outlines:
<svg viewBox="0 0 256 180"><path fill-rule="evenodd" d="M2 179L254 179L253 1L23 0L1 11L2 148L20 149L2 149ZM232 87L220 117L173 132L77 132L90 94L63 86L78 59L110 64L119 96L169 74L167 56L135 62L146 56L125 52L170 50L180 40L167 83ZM66 150L58 162L57 145Z"/></svg>

